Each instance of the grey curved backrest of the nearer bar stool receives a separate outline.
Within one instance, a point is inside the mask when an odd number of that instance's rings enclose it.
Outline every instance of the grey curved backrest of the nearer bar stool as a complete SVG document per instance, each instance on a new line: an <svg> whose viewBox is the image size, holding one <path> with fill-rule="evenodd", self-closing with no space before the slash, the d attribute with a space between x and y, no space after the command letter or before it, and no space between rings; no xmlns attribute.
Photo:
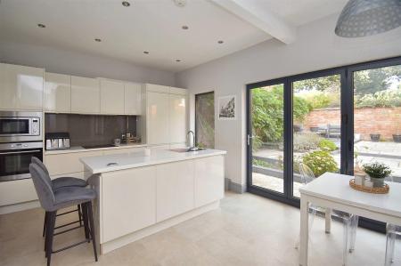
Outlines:
<svg viewBox="0 0 401 266"><path fill-rule="evenodd" d="M36 164L29 165L29 173L37 190L40 206L46 211L51 211L54 206L54 193L52 189L52 181L47 173Z"/></svg>

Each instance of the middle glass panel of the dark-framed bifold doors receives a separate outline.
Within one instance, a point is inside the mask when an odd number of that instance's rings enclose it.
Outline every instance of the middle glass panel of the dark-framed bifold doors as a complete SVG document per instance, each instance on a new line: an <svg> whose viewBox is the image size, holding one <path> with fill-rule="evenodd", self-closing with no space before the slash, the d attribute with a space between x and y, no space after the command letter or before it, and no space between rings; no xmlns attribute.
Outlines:
<svg viewBox="0 0 401 266"><path fill-rule="evenodd" d="M302 79L292 83L292 196L303 185L299 163L315 177L340 172L340 74Z"/></svg>

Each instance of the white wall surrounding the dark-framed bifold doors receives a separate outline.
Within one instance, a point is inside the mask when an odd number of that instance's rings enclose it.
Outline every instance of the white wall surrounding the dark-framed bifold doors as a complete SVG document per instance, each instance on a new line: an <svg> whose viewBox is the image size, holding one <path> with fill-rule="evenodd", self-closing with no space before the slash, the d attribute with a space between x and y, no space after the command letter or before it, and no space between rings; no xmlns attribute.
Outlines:
<svg viewBox="0 0 401 266"><path fill-rule="evenodd" d="M176 85L191 93L237 95L236 121L216 120L216 149L227 150L225 176L246 184L245 85L275 77L401 55L401 28L357 39L334 34L338 15L299 28L293 44L268 40L241 52L176 74ZM216 114L217 108L215 107Z"/></svg>

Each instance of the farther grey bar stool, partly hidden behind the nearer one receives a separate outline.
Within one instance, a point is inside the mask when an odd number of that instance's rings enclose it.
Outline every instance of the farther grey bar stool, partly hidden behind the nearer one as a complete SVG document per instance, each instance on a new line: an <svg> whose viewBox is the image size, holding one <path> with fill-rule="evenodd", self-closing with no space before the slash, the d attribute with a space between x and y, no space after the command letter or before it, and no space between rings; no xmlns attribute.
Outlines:
<svg viewBox="0 0 401 266"><path fill-rule="evenodd" d="M47 175L50 175L49 171L46 168L46 166L44 165L44 163L42 163L42 161L39 158L32 157L31 158L31 162L32 162L32 164L36 164L39 167L41 167L42 170L45 171L45 173ZM53 192L57 191L58 189L65 188L65 187L85 188L86 185L87 184L86 184L85 180L82 180L82 179L76 178L76 177L70 177L70 176L62 176L62 177L59 177L59 178L56 178L56 179L52 180ZM79 205L78 205L76 210L65 212L65 213L62 213L62 214L57 214L57 216L61 216L61 215L64 215L64 214L70 214L72 212L78 212L78 218L79 219L76 222L79 222L79 226L82 226L82 213L81 213L81 208L80 208ZM45 217L45 221L46 221L46 217ZM76 223L76 222L70 222L69 224L63 224L63 225L61 225L61 226L59 226L59 227L57 227L55 229L58 229L58 228L61 228L61 227L65 227L65 226L70 225L71 223ZM43 222L43 233L42 233L43 237L45 237L45 230L46 230L46 222Z"/></svg>

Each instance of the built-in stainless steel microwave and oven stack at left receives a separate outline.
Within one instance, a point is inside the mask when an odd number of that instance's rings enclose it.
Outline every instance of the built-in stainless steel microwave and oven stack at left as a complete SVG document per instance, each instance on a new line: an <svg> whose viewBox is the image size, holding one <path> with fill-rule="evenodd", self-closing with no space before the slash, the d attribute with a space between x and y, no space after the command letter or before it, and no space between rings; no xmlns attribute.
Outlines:
<svg viewBox="0 0 401 266"><path fill-rule="evenodd" d="M0 111L0 181L30 178L31 157L43 159L42 112Z"/></svg>

